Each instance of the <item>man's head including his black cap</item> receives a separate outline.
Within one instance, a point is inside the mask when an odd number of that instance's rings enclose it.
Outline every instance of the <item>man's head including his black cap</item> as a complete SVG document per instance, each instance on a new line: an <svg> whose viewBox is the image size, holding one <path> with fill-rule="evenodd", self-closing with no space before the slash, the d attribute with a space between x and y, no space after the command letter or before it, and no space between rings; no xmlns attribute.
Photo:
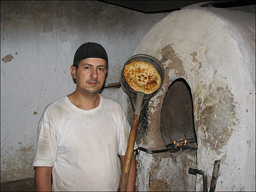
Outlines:
<svg viewBox="0 0 256 192"><path fill-rule="evenodd" d="M105 49L93 42L81 45L75 53L71 72L76 81L76 91L97 95L108 72L108 55Z"/></svg>

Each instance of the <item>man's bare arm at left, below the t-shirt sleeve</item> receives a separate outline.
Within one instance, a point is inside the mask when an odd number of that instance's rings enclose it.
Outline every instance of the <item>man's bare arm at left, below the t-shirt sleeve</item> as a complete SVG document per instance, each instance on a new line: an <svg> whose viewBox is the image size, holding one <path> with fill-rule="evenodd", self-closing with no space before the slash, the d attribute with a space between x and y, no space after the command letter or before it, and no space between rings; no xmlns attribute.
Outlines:
<svg viewBox="0 0 256 192"><path fill-rule="evenodd" d="M52 167L35 167L35 191L52 191Z"/></svg>

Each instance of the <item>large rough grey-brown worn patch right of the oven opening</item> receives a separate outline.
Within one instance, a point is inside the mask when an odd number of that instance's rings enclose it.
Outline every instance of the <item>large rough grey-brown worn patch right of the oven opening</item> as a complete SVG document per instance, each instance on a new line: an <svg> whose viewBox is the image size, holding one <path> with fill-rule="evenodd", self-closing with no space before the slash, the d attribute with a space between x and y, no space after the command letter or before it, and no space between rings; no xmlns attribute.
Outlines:
<svg viewBox="0 0 256 192"><path fill-rule="evenodd" d="M200 107L202 101L200 98L198 99L197 109L199 110L198 113L200 113L200 120L196 122L196 125L205 132L205 138L201 138L203 145L205 147L208 145L212 150L219 153L219 149L227 144L234 131L233 127L237 124L234 119L236 119L237 114L231 91L227 87L218 87L217 92L219 94L219 102L206 106L203 110ZM206 95L205 97L211 97L211 95ZM205 98L205 100L209 99Z"/></svg>

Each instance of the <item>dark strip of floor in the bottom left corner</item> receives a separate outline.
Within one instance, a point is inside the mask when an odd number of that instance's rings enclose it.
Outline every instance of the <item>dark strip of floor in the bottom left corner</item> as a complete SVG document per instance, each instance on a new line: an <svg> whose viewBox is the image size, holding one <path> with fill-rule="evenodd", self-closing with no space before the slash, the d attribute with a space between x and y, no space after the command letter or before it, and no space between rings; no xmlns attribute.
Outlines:
<svg viewBox="0 0 256 192"><path fill-rule="evenodd" d="M34 191L34 178L2 182L1 191Z"/></svg>

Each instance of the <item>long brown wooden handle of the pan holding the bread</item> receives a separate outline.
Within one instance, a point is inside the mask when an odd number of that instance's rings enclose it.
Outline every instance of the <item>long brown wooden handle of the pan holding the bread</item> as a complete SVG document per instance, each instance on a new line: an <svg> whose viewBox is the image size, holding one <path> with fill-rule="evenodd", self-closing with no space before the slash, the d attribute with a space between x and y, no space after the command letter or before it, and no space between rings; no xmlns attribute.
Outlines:
<svg viewBox="0 0 256 192"><path fill-rule="evenodd" d="M130 168L131 168L131 163L132 163L132 158L133 158L133 153L134 153L134 144L135 144L135 139L136 139L139 116L140 116L139 114L134 114L133 124L131 127L129 141L127 143L127 149L126 149L126 153L125 153L125 158L124 158L124 163L123 163L123 168L122 168L122 175L120 178L118 191L126 190L126 185L127 185Z"/></svg>

